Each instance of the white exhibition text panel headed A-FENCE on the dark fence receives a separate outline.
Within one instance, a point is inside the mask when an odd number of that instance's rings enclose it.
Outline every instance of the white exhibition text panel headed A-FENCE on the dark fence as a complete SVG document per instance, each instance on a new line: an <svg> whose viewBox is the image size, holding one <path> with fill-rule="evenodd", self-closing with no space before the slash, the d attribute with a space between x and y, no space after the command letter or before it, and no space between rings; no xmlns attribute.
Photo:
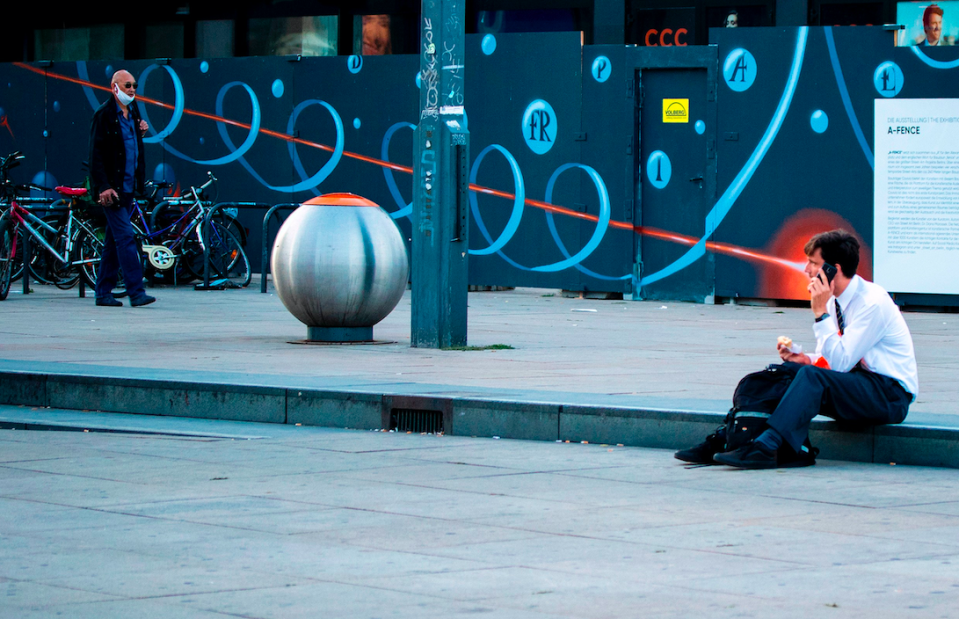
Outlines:
<svg viewBox="0 0 959 619"><path fill-rule="evenodd" d="M959 294L959 99L876 99L876 283Z"/></svg>

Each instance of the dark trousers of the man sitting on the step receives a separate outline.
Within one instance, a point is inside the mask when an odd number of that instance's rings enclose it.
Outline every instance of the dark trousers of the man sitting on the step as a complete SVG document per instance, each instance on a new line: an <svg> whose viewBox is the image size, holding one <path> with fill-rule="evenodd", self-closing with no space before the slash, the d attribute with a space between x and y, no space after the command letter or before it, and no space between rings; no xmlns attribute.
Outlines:
<svg viewBox="0 0 959 619"><path fill-rule="evenodd" d="M835 372L806 365L796 374L769 425L799 451L816 415L872 425L901 423L912 396L896 380L862 368Z"/></svg>

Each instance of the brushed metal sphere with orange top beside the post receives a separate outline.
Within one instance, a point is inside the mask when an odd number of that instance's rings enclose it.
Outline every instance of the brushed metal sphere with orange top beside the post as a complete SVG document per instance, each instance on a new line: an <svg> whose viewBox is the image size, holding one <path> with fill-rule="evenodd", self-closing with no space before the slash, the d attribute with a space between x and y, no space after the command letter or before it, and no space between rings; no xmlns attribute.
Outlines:
<svg viewBox="0 0 959 619"><path fill-rule="evenodd" d="M276 235L273 284L307 340L372 341L409 278L406 244L379 206L349 193L304 203Z"/></svg>

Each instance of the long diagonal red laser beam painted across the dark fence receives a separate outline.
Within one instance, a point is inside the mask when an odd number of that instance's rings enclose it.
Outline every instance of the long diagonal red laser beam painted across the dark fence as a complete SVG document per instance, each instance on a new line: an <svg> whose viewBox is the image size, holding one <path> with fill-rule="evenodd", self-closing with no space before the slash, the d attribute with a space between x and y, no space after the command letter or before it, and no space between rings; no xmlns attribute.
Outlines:
<svg viewBox="0 0 959 619"><path fill-rule="evenodd" d="M102 91L105 91L105 92L111 92L111 90L110 90L109 88L107 88L106 86L98 86L97 84L94 84L94 83L92 83L92 82L88 82L88 81L86 81L86 80L82 80L82 79L79 79L79 78L76 78L76 77L70 77L70 76L68 76L68 75L63 75L63 74L60 74L60 73L52 73L52 72L44 71L43 69L40 69L40 68L38 68L38 67L31 67L30 65L25 64L25 63L22 63L22 62L14 62L13 65L16 66L16 67L20 67L21 69L26 69L27 71L31 71L31 72L33 72L33 73L37 73L37 74L43 75L43 76L45 76L45 77L51 77L51 78L53 78L53 79L62 80L62 81L65 81L65 82L70 82L70 83L72 83L72 84L79 84L79 85L81 85L81 86L88 86L88 87L90 87L90 88L95 88L95 89L97 89L97 90L102 90ZM171 105L171 104L169 104L169 103L165 103L165 102L163 102L163 101L158 101L158 100L156 100L156 99L151 99L151 98L149 98L149 97L144 97L144 96L140 96L139 98L140 98L140 101L143 101L144 103L148 103L148 104L150 104L150 105L155 105L155 106L162 107L162 108L165 108L165 109L168 109L168 110L175 109L175 106L173 106L173 105ZM198 117L198 118L206 118L206 119L212 120L212 121L214 121L214 122L226 123L226 124L228 124L228 125L232 125L232 126L234 126L234 127L240 127L240 128L242 128L242 129L251 130L251 129L253 128L252 125L249 125L249 124L247 124L247 123L242 123L242 122L240 122L240 121L231 120L231 119L229 119L229 118L223 118L222 116L217 116L216 114L209 114L209 113L207 113L207 112L200 112L200 111L197 111L197 110L191 110L191 109L184 108L183 113L184 113L184 114L187 114L187 115L189 115L189 116L196 116L196 117ZM8 128L9 128L9 127L8 127ZM262 133L262 134L264 134L264 135L268 135L268 136L270 136L270 137L274 137L274 138L277 138L277 139L280 139L280 140L284 140L284 141L286 141L286 142L293 142L294 144L300 144L300 145L303 145L303 146L309 146L309 147L311 147L311 148L316 148L316 149L323 150L323 151L330 152L330 153L334 152L334 150L335 150L332 146L328 146L328 145L326 145L326 144L320 144L319 142L311 142L311 141L309 141L309 140L303 140L303 139L301 139L301 138L297 138L297 137L294 137L294 136L291 136L291 135L287 135L287 134L285 134L285 133L280 133L279 131L274 131L274 130L272 130L272 129L264 129L264 128L260 127L260 128L258 129L258 131L259 131L259 133ZM376 159L375 157L368 157L368 156L366 156L366 155L361 155L361 154L359 154L359 153L354 153L354 152L350 152L350 151L343 151L343 156L344 156L344 157L348 157L348 158L350 158L350 159L356 159L357 161L363 161L363 162L366 162L366 163L370 163L370 164L373 164L373 165L376 165L376 166L380 166L380 167L383 167L383 168L389 168L389 169L394 170L394 171L396 171L396 172L404 172L404 173L406 173L406 174L412 174L412 173L413 173L413 168L412 168L412 167L400 165L400 164L398 164L398 163L390 163L389 161L383 161L382 159ZM470 184L469 184L469 188L470 188L471 190L477 192L477 193L482 193L482 194L486 194L486 195L490 195L490 196L496 196L496 197L504 198L504 199L507 199L507 200L515 200L515 199L516 199L516 195L515 195L515 194L511 194L511 193L509 193L509 192L507 192L507 191L500 191L499 189L492 189L492 188L490 188L490 187L483 187L482 185L476 185L476 184L474 184L474 183L470 183ZM573 217L573 218L576 218L576 219L582 219L582 220L585 220L585 221L592 221L592 222L598 222L598 221L599 221L599 217L597 217L596 215L590 215L590 214L588 214L588 213L580 213L580 212L578 212L578 211L574 211L574 210L569 209L569 208L565 208L565 207L562 207L562 206L557 206L557 205L555 205L555 204L550 204L549 202L541 202L541 201L539 201L539 200L533 200L532 198L525 198L525 199L523 200L523 203L524 203L524 204L527 204L527 205L529 205L529 206L532 206L532 207L534 207L534 208L542 209L542 210L544 210L544 211L548 211L548 212L551 212L551 213L557 213L557 214L560 214L560 215L566 215L567 217ZM624 221L610 220L610 222L609 222L609 227L611 227L611 228L616 228L616 229L619 229L619 230L630 230L630 231L634 232L635 234L640 234L640 235L643 235L643 236L648 236L648 237L652 237L652 238L657 238L657 239L661 239L661 240L664 240L664 241L670 241L670 242L673 242L673 243L677 243L677 244L679 244L679 245L687 245L687 246L690 246L690 247L693 246L693 245L696 245L696 244L699 242L699 240L700 240L700 239L698 239L698 238L696 238L696 237L691 237L691 236L686 236L686 235L682 235L682 234L677 234L677 233L675 233L675 232L668 232L668 231L666 231L666 230L660 230L660 229L658 229L658 228L651 228L651 227L648 227L648 226L635 226L635 225L633 225L633 224L631 224L631 223L627 223L627 222L624 222ZM738 256L738 257L740 257L740 258L744 258L744 259L747 259L747 260L754 260L754 261L757 261L757 262L764 262L764 263L767 263L767 264L772 264L772 265L780 266L780 267L786 267L786 268L789 268L789 269L801 268L801 267L797 267L795 263L790 262L789 260L785 260L785 259L783 259L783 258L779 258L779 257L776 257L776 256L771 256L771 255L769 255L769 254L764 254L764 253L757 252L757 251L754 251L754 250L746 249L746 248L744 248L744 247L739 247L739 246L736 246L736 245L729 245L729 244L727 244L727 243L716 243L716 242L712 242L712 241L707 241L707 242L706 242L706 249L708 249L709 251L712 251L712 252L714 252L714 253L726 254L726 255L730 255L730 256Z"/></svg>

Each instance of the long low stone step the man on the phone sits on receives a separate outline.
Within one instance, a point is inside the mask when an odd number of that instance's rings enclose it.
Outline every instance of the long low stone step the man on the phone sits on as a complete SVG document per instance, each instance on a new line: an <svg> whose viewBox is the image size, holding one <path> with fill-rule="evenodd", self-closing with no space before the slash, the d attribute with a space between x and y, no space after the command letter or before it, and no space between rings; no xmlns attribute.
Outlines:
<svg viewBox="0 0 959 619"><path fill-rule="evenodd" d="M392 429L398 417L432 417L450 435L665 449L700 442L724 415L716 403L710 403L711 410L698 410L666 400L624 404L591 394L532 390L358 381L337 385L304 377L255 380L196 371L188 380L172 372L156 374L68 364L7 369L0 371L0 404L366 430ZM31 423L49 425L49 420L33 416ZM810 438L821 458L959 468L959 420L954 415L913 414L901 425L865 429L819 417Z"/></svg>

